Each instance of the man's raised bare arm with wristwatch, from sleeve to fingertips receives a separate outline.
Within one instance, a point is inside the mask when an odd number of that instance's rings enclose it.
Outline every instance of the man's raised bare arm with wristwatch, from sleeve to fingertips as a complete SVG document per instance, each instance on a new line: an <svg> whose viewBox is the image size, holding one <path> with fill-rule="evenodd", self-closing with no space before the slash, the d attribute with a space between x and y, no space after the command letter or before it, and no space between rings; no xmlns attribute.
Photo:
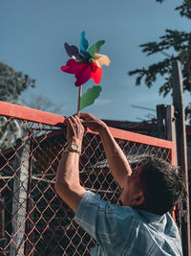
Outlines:
<svg viewBox="0 0 191 256"><path fill-rule="evenodd" d="M78 203L86 193L79 182L79 153L84 128L77 116L68 118L66 125L68 147L63 152L57 168L55 191L75 212Z"/></svg>

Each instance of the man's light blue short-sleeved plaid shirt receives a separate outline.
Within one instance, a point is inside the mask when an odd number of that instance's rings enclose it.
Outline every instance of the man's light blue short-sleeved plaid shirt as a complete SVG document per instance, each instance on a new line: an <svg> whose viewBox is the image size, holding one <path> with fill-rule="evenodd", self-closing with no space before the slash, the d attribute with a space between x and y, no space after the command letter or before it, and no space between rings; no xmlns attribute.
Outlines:
<svg viewBox="0 0 191 256"><path fill-rule="evenodd" d="M74 220L99 244L92 255L182 255L179 230L170 214L120 207L87 191Z"/></svg>

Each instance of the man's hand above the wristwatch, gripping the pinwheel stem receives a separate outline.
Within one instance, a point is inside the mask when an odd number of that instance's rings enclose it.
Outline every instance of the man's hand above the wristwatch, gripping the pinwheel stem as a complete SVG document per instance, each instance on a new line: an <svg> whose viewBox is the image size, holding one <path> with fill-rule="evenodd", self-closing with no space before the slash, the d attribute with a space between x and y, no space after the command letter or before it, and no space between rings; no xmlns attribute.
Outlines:
<svg viewBox="0 0 191 256"><path fill-rule="evenodd" d="M71 144L76 144L81 147L84 127L82 126L77 116L71 116L66 119L65 124L67 125L67 141Z"/></svg>

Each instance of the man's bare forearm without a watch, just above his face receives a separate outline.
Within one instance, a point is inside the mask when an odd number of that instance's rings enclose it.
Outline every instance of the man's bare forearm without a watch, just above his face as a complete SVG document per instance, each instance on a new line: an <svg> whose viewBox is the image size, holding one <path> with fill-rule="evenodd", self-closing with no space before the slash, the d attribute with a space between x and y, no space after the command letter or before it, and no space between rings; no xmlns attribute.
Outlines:
<svg viewBox="0 0 191 256"><path fill-rule="evenodd" d="M112 136L109 128L102 128L99 131L99 135L106 152L110 170L118 185L122 188L124 187L124 182L126 182L126 175L131 175L132 173L131 167L123 151L120 149L116 140Z"/></svg>

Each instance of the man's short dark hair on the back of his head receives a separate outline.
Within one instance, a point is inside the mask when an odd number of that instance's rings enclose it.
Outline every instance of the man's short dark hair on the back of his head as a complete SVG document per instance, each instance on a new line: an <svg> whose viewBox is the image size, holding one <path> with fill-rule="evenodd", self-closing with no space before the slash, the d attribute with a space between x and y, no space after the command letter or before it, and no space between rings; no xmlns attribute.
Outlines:
<svg viewBox="0 0 191 256"><path fill-rule="evenodd" d="M140 178L146 210L158 215L167 213L185 196L180 169L153 155L144 156L143 162Z"/></svg>

